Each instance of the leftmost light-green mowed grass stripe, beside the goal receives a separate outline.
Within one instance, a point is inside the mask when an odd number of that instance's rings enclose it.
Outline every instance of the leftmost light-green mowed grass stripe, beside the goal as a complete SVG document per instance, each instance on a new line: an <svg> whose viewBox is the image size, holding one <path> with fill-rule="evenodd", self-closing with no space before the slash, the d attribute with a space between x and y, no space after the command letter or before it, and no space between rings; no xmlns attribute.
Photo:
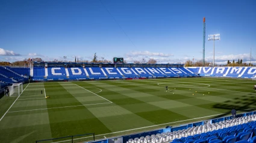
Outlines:
<svg viewBox="0 0 256 143"><path fill-rule="evenodd" d="M20 97L30 97L31 90L36 87L34 85L36 84L31 83ZM41 106L46 107L45 100L37 102L17 100L10 111ZM0 133L3 142L34 142L37 139L51 138L48 112L8 112L0 122Z"/></svg>

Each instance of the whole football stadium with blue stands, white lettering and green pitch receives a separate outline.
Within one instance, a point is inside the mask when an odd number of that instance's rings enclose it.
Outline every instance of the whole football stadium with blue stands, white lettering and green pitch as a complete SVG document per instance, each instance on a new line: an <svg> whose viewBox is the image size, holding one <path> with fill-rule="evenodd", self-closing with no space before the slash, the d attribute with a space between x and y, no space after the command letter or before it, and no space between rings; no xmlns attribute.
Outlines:
<svg viewBox="0 0 256 143"><path fill-rule="evenodd" d="M6 142L231 142L255 135L256 67L34 62L0 71L1 89L10 90L1 99Z"/></svg>

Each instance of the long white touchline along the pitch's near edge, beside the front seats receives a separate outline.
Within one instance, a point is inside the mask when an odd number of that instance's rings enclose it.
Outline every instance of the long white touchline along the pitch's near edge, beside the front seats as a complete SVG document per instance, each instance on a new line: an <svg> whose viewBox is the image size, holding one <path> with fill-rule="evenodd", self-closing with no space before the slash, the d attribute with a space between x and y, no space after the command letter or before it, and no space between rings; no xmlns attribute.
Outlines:
<svg viewBox="0 0 256 143"><path fill-rule="evenodd" d="M251 109L255 109L255 108L251 108ZM250 109L245 109L245 110L250 110ZM226 114L226 113L223 113L223 114ZM223 115L223 114L216 114L216 115L210 115L210 116L205 116L205 117L192 118L192 119L188 119L188 120L174 121L174 122L164 123L164 124L180 123L180 122L183 122L183 121L196 120L196 119L200 119L200 118L213 117L213 116ZM139 128L136 128L136 129L122 130L122 131L112 132L112 133L104 133L104 134L101 134L101 135L95 135L95 136L104 136L104 135L110 135L110 134L113 134L113 133L128 132L128 131L131 131L131 130L145 129L145 128L148 128L148 127L161 126L161 125L164 125L164 124L156 124L156 125L152 125L152 126L139 127ZM188 124L189 124L189 123L188 123ZM178 127L178 126L177 126L177 127ZM129 135L131 135L131 134L129 134ZM91 138L91 137L92 137L92 136L87 136L87 137L83 137L83 138ZM76 138L76 139L83 139L83 138ZM73 139L73 140L75 140L75 139ZM66 141L71 141L71 140L69 139L69 140L66 140ZM65 142L65 141L60 141L60 142Z"/></svg>

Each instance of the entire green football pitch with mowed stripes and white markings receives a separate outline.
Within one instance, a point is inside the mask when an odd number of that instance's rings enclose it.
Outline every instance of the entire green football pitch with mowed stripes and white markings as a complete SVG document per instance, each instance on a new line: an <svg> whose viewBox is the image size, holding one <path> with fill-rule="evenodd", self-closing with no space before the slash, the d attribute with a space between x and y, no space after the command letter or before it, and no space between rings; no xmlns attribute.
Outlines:
<svg viewBox="0 0 256 143"><path fill-rule="evenodd" d="M220 78L30 83L19 97L0 99L0 141L85 133L103 139L224 117L233 107L238 114L255 111L254 84Z"/></svg>

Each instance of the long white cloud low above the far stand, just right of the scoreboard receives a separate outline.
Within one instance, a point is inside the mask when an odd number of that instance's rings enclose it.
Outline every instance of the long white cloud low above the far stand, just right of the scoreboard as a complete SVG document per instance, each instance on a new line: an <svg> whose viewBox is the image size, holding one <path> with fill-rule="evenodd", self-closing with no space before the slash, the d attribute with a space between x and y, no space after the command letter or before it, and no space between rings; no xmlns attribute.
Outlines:
<svg viewBox="0 0 256 143"><path fill-rule="evenodd" d="M154 53L149 52L148 50L145 51L133 51L130 53L126 53L126 56L161 56L161 57L169 57L173 56L172 54L164 54L164 53Z"/></svg>

